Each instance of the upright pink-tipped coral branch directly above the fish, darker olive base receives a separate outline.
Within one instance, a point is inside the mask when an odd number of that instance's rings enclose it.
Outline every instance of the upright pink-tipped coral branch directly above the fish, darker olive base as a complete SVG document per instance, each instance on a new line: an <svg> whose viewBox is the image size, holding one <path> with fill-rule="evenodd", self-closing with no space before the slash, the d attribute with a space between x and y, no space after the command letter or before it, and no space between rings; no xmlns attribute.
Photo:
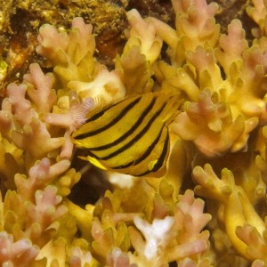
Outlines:
<svg viewBox="0 0 267 267"><path fill-rule="evenodd" d="M151 68L160 54L162 39L156 35L156 27L132 10L127 13L130 31L124 52L116 60L127 94L150 92L153 86Z"/></svg>

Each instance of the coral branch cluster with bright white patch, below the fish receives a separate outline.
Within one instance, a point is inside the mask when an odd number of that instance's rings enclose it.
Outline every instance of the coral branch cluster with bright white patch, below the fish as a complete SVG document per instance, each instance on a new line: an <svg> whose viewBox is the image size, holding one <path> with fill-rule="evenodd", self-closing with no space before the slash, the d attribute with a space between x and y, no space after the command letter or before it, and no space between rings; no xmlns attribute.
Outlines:
<svg viewBox="0 0 267 267"><path fill-rule="evenodd" d="M129 229L129 234L142 264L161 266L168 261L182 264L187 257L194 258L205 252L208 232L202 229L210 220L210 215L203 214L203 204L199 198L194 199L192 191L188 190L180 196L173 216L155 218L151 224L135 217L134 224L142 232L145 241L134 228ZM162 251L165 251L164 255Z"/></svg>

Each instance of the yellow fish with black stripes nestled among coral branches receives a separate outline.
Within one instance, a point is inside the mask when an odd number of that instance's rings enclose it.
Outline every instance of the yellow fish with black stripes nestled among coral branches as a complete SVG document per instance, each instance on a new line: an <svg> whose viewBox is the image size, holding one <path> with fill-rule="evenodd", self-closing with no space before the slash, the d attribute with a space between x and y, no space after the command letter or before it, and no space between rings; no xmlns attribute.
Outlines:
<svg viewBox="0 0 267 267"><path fill-rule="evenodd" d="M168 125L177 115L181 97L163 91L144 93L96 105L72 142L87 153L93 165L134 176L166 172ZM158 175L157 175L158 174Z"/></svg>

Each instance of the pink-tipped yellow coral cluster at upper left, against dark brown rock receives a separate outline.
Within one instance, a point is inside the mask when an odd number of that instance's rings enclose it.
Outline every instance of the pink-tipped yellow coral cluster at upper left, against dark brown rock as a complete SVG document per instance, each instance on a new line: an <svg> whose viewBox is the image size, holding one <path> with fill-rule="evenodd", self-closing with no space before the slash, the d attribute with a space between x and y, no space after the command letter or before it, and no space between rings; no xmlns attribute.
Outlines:
<svg viewBox="0 0 267 267"><path fill-rule="evenodd" d="M73 20L69 35L59 33L48 24L40 28L40 45L36 51L53 63L54 72L63 85L69 81L86 82L93 75L95 44L92 30L92 25L85 24L82 18Z"/></svg>

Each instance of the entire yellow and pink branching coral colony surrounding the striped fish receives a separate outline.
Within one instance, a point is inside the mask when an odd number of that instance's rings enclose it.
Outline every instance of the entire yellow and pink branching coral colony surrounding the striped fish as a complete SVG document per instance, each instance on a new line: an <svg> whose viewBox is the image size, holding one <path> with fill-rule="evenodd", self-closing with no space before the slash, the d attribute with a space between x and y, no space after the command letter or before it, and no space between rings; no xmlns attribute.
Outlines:
<svg viewBox="0 0 267 267"><path fill-rule="evenodd" d="M40 28L36 51L53 72L31 64L0 111L1 266L267 266L267 3L247 7L258 25L248 44L239 20L221 34L217 4L172 2L175 28L127 13L112 70L93 56L82 18L68 32ZM166 174L107 171L112 192L85 207L70 201L81 177L70 167L77 114L100 95L160 90L182 101Z"/></svg>

